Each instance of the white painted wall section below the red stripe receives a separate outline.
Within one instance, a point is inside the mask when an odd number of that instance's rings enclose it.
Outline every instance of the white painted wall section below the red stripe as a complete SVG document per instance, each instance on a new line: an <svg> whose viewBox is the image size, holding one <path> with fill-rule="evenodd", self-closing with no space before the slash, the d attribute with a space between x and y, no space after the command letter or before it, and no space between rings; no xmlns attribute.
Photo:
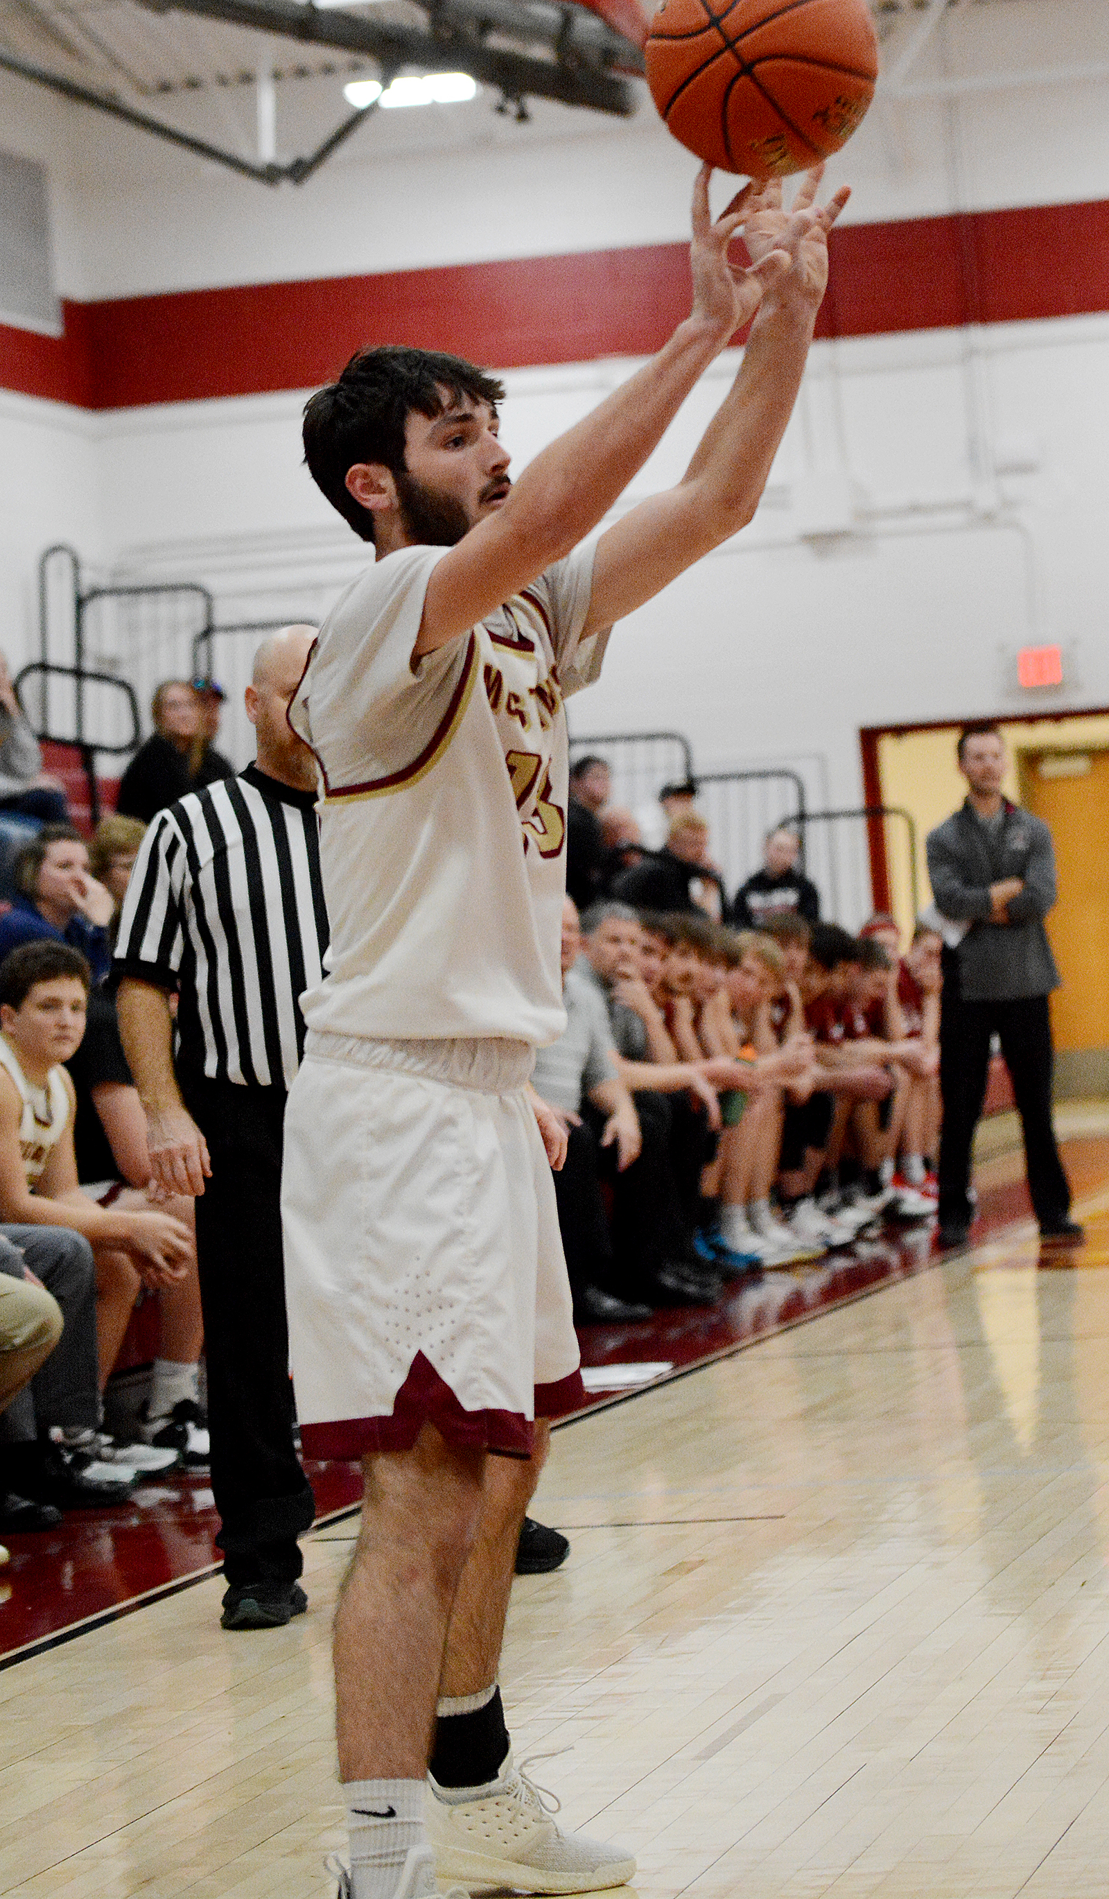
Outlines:
<svg viewBox="0 0 1109 1899"><path fill-rule="evenodd" d="M634 367L511 372L517 465ZM629 503L680 477L733 367L722 359L695 391ZM993 477L972 471L974 391ZM365 558L300 465L300 395L82 418L68 435L59 410L38 441L40 406L8 404L36 442L34 496L19 501L25 566L57 537L63 503L82 553L122 581L203 581L220 621L319 619ZM803 761L809 805L855 805L860 725L1109 705L1107 492L1109 317L818 344L754 524L621 627L572 724L676 727L701 769ZM23 611L28 644L21 585L11 627ZM91 657L146 699L188 670L192 627L169 610L104 611ZM1046 642L1063 646L1067 682L1029 695L1014 655ZM253 644L216 651L237 758Z"/></svg>

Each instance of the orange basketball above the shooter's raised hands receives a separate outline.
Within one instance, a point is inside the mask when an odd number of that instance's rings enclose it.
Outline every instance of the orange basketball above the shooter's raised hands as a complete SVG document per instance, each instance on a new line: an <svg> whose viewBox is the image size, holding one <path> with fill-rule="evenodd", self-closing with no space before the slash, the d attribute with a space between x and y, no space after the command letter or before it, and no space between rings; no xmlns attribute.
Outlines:
<svg viewBox="0 0 1109 1899"><path fill-rule="evenodd" d="M877 80L866 0L663 0L648 84L680 144L720 171L784 177L830 158Z"/></svg>

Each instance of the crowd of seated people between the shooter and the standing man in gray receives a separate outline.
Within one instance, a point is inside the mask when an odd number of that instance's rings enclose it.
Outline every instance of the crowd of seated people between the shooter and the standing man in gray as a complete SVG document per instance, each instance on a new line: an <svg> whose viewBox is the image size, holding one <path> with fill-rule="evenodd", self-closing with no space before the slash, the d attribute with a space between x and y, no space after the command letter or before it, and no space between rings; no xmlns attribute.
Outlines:
<svg viewBox="0 0 1109 1899"><path fill-rule="evenodd" d="M930 1221L938 936L917 927L902 955L889 915L858 936L820 921L788 826L722 925L695 784L667 786L659 849L623 807L606 824L608 767L581 765L589 904L568 902L564 927L575 1027L536 1069L570 1128L558 1208L577 1316L714 1301L879 1221Z"/></svg>

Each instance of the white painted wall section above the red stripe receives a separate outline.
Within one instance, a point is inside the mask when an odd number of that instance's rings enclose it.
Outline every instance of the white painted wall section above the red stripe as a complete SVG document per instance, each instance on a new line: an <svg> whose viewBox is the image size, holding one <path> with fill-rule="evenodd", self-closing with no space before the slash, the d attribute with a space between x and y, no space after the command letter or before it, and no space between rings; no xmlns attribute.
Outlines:
<svg viewBox="0 0 1109 1899"><path fill-rule="evenodd" d="M917 19L883 49L887 74ZM908 85L1037 85L877 101L830 179L849 218L1109 197L1105 0L980 0L955 8ZM1101 78L1075 78L1073 74ZM1071 74L1071 78L1067 78ZM310 110L311 106L311 110ZM156 106L161 110L161 106ZM180 101L175 112L186 110ZM196 108L197 112L201 106ZM346 110L342 80L279 89L283 154ZM251 93L220 95L230 123L196 120L249 156ZM315 118L313 118L315 114ZM644 89L634 120L537 106L532 125L469 106L370 118L306 186L270 190L84 106L0 74L0 141L51 173L59 285L122 296L403 270L682 239L695 161Z"/></svg>

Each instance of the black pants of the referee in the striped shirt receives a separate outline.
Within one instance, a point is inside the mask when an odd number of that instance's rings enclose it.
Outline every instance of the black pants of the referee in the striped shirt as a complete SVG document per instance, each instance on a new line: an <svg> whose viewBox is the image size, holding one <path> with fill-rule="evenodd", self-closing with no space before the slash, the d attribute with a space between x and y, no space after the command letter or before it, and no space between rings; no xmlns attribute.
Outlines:
<svg viewBox="0 0 1109 1899"><path fill-rule="evenodd" d="M315 1498L292 1441L281 1257L285 1088L182 1077L213 1174L196 1202L216 1546L232 1588L300 1576Z"/></svg>

